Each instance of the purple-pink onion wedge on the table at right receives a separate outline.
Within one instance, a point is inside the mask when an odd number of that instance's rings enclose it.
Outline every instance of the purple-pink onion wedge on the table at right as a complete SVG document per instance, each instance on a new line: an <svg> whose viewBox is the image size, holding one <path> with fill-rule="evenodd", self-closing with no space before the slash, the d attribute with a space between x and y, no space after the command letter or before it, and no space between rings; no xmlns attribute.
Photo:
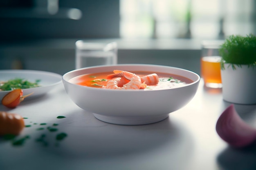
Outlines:
<svg viewBox="0 0 256 170"><path fill-rule="evenodd" d="M256 140L256 129L240 118L234 104L227 107L220 115L216 123L216 131L220 138L236 148L245 147Z"/></svg>

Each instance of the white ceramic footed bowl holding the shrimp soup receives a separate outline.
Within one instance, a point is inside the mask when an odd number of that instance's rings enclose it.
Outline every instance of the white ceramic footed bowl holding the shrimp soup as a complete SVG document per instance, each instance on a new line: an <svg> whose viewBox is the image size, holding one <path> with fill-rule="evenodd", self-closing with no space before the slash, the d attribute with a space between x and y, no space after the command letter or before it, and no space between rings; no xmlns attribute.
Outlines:
<svg viewBox="0 0 256 170"><path fill-rule="evenodd" d="M85 87L70 79L91 73L112 72L114 69L171 73L189 78L193 83L184 87L159 90L115 90ZM82 109L92 112L104 122L120 125L142 125L166 119L169 113L184 107L195 95L200 76L194 72L161 65L124 64L85 67L67 72L62 77L67 94Z"/></svg>

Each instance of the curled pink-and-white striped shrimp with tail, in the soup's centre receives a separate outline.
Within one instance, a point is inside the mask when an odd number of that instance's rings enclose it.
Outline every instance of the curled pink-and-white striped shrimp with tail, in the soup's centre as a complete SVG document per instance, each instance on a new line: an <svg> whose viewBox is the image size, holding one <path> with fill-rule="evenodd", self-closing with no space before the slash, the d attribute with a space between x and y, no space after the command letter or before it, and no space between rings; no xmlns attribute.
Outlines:
<svg viewBox="0 0 256 170"><path fill-rule="evenodd" d="M124 77L127 80L129 80L128 83L124 84L123 87L120 87L118 89L141 89L141 88L143 89L143 88L146 88L146 84L141 83L141 78L139 76L137 76L136 74L133 74L131 72L126 72L126 71L121 71L121 70L114 70L114 73L115 74L110 74L107 76L107 79L115 78L115 79L108 81L107 88L117 89L119 79L117 79L116 77L118 77L118 78Z"/></svg>

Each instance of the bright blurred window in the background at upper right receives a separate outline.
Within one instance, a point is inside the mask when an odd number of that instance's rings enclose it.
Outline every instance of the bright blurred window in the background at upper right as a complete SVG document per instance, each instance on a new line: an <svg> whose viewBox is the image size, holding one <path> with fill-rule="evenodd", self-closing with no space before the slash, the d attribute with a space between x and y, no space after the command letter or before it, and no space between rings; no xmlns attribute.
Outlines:
<svg viewBox="0 0 256 170"><path fill-rule="evenodd" d="M121 38L255 34L254 0L120 0Z"/></svg>

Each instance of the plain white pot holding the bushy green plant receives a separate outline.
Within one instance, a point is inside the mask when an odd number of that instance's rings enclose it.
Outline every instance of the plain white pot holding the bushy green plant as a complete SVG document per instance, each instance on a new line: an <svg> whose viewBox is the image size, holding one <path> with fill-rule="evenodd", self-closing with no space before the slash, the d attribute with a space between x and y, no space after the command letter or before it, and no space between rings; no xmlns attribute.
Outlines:
<svg viewBox="0 0 256 170"><path fill-rule="evenodd" d="M256 67L242 65L221 70L223 100L237 104L256 104Z"/></svg>

